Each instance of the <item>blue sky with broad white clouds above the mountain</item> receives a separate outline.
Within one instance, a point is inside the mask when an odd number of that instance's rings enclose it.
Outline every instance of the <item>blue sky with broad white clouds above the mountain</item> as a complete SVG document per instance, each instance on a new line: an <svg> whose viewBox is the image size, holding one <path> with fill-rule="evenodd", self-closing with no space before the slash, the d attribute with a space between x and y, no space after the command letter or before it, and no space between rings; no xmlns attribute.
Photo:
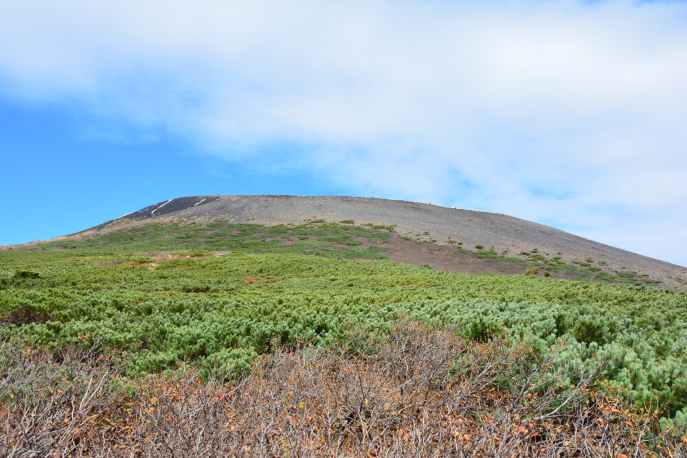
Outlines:
<svg viewBox="0 0 687 458"><path fill-rule="evenodd" d="M344 194L687 264L684 2L37 0L0 17L0 244L179 196Z"/></svg>

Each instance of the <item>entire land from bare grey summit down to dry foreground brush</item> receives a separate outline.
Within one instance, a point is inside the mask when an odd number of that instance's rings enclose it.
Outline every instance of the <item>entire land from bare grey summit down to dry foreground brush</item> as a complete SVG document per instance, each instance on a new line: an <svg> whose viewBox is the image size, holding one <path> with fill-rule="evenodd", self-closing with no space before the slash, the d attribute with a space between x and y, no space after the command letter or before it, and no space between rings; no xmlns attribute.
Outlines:
<svg viewBox="0 0 687 458"><path fill-rule="evenodd" d="M684 456L680 266L326 196L171 199L0 248L0 456Z"/></svg>

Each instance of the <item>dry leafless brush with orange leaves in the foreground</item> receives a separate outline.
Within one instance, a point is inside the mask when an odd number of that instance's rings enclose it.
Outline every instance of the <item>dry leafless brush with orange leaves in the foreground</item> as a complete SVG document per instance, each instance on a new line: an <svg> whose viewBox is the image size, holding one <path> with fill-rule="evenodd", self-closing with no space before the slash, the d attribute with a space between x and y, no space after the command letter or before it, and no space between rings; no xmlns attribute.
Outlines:
<svg viewBox="0 0 687 458"><path fill-rule="evenodd" d="M10 345L10 346L8 346ZM11 351L6 344L3 351ZM232 383L193 369L126 389L97 352L24 352L0 378L1 456L679 457L684 433L531 349L405 323L384 345L278 349ZM3 371L5 368L1 368ZM498 380L509 380L508 387Z"/></svg>

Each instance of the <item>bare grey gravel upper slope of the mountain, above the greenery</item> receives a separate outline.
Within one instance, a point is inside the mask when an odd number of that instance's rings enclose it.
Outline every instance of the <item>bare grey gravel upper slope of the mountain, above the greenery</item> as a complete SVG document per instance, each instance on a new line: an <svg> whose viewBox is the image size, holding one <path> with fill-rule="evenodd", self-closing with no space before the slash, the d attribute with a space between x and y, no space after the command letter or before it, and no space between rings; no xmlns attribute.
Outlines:
<svg viewBox="0 0 687 458"><path fill-rule="evenodd" d="M558 255L563 262L593 259L607 269L627 269L661 279L666 286L679 286L687 268L610 247L582 237L513 218L504 214L455 209L425 203L380 198L343 196L192 196L150 205L94 227L95 233L126 225L171 220L209 222L227 220L260 225L301 224L305 220L327 222L354 220L356 225L394 225L398 236L433 240L447 245L462 242L465 249L483 246L506 256L537 249ZM454 245L455 246L455 245ZM394 257L392 257L393 259ZM449 269L450 270L450 269Z"/></svg>

